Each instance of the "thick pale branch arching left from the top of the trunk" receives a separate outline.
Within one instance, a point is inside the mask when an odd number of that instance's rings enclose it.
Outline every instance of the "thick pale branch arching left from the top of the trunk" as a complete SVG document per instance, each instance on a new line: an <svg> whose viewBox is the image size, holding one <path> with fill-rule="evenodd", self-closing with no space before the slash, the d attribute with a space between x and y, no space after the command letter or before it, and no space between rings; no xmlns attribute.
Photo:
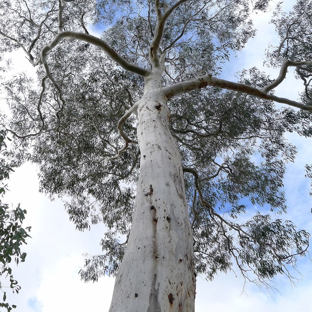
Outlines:
<svg viewBox="0 0 312 312"><path fill-rule="evenodd" d="M140 76L147 76L151 73L151 71L149 71L148 69L129 63L126 59L119 55L106 41L90 34L71 31L63 31L58 33L55 38L42 49L39 63L46 63L46 56L49 51L51 51L62 39L66 37L72 38L74 40L77 39L85 41L101 48L108 56L110 56L113 61L115 61L125 70L131 71Z"/></svg>

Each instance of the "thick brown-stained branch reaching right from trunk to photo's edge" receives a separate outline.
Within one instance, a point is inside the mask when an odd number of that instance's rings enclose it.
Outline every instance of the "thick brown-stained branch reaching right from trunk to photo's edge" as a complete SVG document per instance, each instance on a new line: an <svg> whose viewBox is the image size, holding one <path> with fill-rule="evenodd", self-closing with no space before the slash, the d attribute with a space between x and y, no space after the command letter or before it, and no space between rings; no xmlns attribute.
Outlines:
<svg viewBox="0 0 312 312"><path fill-rule="evenodd" d="M297 62L290 62L290 63L297 63ZM302 63L302 62L298 62L298 63ZM275 101L278 103L294 106L303 110L312 111L312 105L311 106L304 105L302 103L299 103L293 100L280 98L275 95L270 95L250 85L215 78L215 77L212 77L212 75L210 74L200 76L193 80L183 81L183 82L179 82L168 87L164 87L162 88L162 93L169 99L183 92L198 90L201 88L206 88L207 86L214 86L214 87L218 87L222 89L242 92L247 95L252 95L260 99L271 100L271 101Z"/></svg>

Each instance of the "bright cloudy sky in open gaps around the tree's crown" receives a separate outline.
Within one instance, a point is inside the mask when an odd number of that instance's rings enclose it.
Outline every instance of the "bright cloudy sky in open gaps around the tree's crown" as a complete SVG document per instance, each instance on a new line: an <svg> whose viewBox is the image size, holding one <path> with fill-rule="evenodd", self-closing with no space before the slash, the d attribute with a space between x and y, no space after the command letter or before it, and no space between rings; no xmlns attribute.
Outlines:
<svg viewBox="0 0 312 312"><path fill-rule="evenodd" d="M284 3L288 8L293 2ZM263 67L264 50L270 42L276 42L275 28L270 25L268 14L253 15L258 35L251 39L246 48L223 72L222 78L235 81L234 74L243 68L253 66L271 74L278 70ZM15 71L26 70L34 74L32 66L25 62L19 51L11 55ZM276 88L276 95L298 99L298 91L303 90L299 80L289 71L286 80ZM287 165L285 193L289 206L285 218L292 220L298 228L312 233L312 200L309 197L310 180L305 178L305 164L311 162L311 141L296 134L287 134L296 145L298 154L295 163ZM38 170L30 163L17 168L11 174L10 192L3 202L15 207L21 203L27 210L24 226L32 226L31 236L23 251L27 252L26 261L13 269L14 277L22 286L18 295L9 294L7 302L17 305L16 312L55 312L55 311L102 311L108 312L112 297L114 278L105 276L97 283L85 284L80 280L78 271L83 266L85 252L100 254L100 239L105 226L98 224L90 231L78 232L69 221L60 199L50 201L38 192ZM280 276L274 281L279 292L269 294L253 284L244 287L244 280L234 274L218 274L212 282L197 277L196 312L227 311L254 312L294 310L307 311L312 291L312 265L308 258L298 262L297 285L291 286L287 278ZM243 291L244 290L244 291Z"/></svg>

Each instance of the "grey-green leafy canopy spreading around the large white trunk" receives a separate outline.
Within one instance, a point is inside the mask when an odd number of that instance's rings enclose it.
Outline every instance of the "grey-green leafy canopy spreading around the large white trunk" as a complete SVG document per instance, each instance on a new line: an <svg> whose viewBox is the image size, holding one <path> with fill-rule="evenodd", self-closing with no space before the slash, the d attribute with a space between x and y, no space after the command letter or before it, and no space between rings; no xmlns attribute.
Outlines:
<svg viewBox="0 0 312 312"><path fill-rule="evenodd" d="M163 87L206 74L221 76L228 61L256 33L252 10L266 10L269 2L255 1L250 6L245 0L189 0L180 5L168 17L159 50ZM30 61L39 60L39 64L42 48L56 36L61 23L58 3L25 3L2 4L1 49L24 47ZM166 5L160 3L165 14ZM280 66L278 53L290 61L311 59L311 12L311 2L304 0L298 1L290 15L277 8L273 23L285 45L278 43L268 50L268 64ZM101 39L111 46L110 51L152 69L149 50L157 28L154 1L90 4L75 0L65 6L65 30L88 33L84 21L86 25L93 22L95 29L104 28ZM98 222L107 226L101 241L105 253L88 257L80 271L82 279L94 281L105 272L116 274L130 231L139 148L129 144L121 157L107 158L124 144L116 125L142 97L144 80L89 42L62 41L47 59L49 71L37 67L38 81L19 74L3 82L13 114L7 127L19 138L12 155L18 162L30 159L40 166L42 192L71 197L65 206L77 229ZM312 67L296 68L297 77L305 82L302 102L311 105L311 80L307 79ZM238 75L238 83L262 90L274 81L251 68ZM273 89L267 94L273 95ZM285 163L294 161L296 148L285 133L311 137L311 112L277 106L264 93L259 98L213 85L186 91L169 100L168 106L183 166L196 168L200 176L202 199L193 175L185 174L197 273L212 279L217 271L236 265L245 278L257 277L258 282L266 283L278 273L292 279L287 265L295 266L297 256L305 255L309 234L297 231L290 221L273 220L256 210L286 211ZM124 123L130 143L135 143L137 123L135 115ZM29 146L30 154L20 152ZM239 223L238 217L245 212L255 216ZM226 215L223 219L222 214ZM250 278L249 272L255 276Z"/></svg>

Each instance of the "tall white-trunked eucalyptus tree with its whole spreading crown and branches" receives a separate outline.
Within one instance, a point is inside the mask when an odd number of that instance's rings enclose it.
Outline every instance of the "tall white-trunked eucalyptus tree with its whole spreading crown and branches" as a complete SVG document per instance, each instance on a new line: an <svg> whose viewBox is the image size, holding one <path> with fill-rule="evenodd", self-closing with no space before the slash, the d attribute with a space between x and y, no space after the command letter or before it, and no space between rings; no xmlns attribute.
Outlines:
<svg viewBox="0 0 312 312"><path fill-rule="evenodd" d="M284 134L312 134L310 0L288 14L276 6L275 80L256 68L222 79L256 33L251 12L269 4L1 2L1 55L23 50L39 81L2 82L11 156L40 166L41 191L71 197L77 229L107 226L104 253L80 274L116 275L110 312L194 311L197 274L292 279L288 265L305 255L309 234L292 222L260 212L238 221L254 206L285 212L285 163L296 150ZM90 23L103 33L90 34ZM274 93L289 69L303 81L300 101Z"/></svg>

